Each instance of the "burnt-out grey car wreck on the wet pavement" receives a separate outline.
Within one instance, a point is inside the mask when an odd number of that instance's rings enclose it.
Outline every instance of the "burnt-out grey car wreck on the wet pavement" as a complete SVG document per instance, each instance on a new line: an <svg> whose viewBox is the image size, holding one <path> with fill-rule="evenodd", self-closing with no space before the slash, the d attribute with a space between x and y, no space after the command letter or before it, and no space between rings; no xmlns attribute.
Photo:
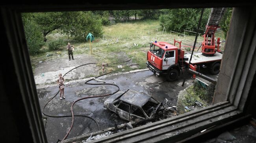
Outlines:
<svg viewBox="0 0 256 143"><path fill-rule="evenodd" d="M132 123L167 118L170 115L176 116L177 112L174 107L164 105L148 94L133 90L119 91L104 102L105 108L115 112L121 119Z"/></svg>

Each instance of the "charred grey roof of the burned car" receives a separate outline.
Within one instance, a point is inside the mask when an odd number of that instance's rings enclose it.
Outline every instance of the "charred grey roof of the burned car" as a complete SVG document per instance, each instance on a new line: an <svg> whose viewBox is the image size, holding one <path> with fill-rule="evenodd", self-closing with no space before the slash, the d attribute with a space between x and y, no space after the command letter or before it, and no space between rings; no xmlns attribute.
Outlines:
<svg viewBox="0 0 256 143"><path fill-rule="evenodd" d="M150 95L129 90L121 96L120 100L138 107L143 107L143 105L145 105L150 98Z"/></svg>

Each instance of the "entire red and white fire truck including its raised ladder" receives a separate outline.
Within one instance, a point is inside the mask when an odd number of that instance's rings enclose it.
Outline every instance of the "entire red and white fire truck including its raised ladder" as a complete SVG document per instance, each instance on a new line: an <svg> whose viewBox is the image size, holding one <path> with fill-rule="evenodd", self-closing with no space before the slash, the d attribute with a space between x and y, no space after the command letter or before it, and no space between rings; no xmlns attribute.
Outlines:
<svg viewBox="0 0 256 143"><path fill-rule="evenodd" d="M211 74L218 74L222 52L219 49L220 38L217 38L215 46L215 32L219 28L219 21L225 8L212 8L211 14L203 35L202 51L194 52L190 60L191 53L186 53L181 49L181 41L174 39L174 44L167 42L150 42L150 50L147 52L146 66L157 76L165 75L167 81L174 81L182 73L182 69L189 68L198 71L198 67L207 68ZM179 46L176 47L175 43ZM190 63L189 63L190 61ZM195 74L193 75L195 78Z"/></svg>

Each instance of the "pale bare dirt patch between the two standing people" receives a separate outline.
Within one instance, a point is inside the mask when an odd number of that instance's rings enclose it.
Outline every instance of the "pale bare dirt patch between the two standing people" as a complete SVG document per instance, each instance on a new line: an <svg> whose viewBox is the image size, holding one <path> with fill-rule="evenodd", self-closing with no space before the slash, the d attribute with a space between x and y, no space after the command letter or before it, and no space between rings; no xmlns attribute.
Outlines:
<svg viewBox="0 0 256 143"><path fill-rule="evenodd" d="M46 60L38 63L35 67L34 79L36 85L56 83L59 73L63 75L71 69L86 63L96 63L97 60L89 54L74 54L74 59L69 61L69 56L64 54L54 60ZM93 71L93 72L91 72ZM78 80L88 76L98 75L99 68L96 64L82 66L80 68L70 71L65 76L65 80Z"/></svg>

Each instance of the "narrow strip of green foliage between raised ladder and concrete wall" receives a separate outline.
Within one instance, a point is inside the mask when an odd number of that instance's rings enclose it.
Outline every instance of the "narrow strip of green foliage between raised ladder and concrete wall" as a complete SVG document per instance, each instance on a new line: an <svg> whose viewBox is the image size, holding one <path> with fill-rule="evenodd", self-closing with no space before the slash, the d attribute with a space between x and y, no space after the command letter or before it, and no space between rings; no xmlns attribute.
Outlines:
<svg viewBox="0 0 256 143"><path fill-rule="evenodd" d="M221 26L221 29L224 31L225 37L227 36L227 32L229 29L231 15L232 15L232 8L230 8L230 7L226 8L226 10L221 18L220 24L219 24Z"/></svg>

